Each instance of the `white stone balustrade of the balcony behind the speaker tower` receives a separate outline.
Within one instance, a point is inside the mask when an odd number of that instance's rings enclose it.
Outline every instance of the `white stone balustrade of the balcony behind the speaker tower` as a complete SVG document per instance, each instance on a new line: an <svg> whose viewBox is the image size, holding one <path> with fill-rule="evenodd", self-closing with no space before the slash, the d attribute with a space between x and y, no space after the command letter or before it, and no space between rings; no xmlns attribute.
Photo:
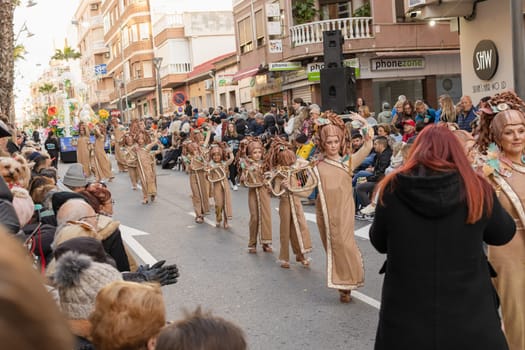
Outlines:
<svg viewBox="0 0 525 350"><path fill-rule="evenodd" d="M310 22L290 27L292 47L323 42L323 31L341 30L345 40L374 37L372 17L352 17Z"/></svg>

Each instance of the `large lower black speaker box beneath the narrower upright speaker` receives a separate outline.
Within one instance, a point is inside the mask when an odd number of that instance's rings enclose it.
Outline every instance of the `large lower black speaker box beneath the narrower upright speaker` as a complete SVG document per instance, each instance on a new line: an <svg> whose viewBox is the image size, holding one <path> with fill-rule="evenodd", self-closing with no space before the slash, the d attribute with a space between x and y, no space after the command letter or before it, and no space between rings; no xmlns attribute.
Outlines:
<svg viewBox="0 0 525 350"><path fill-rule="evenodd" d="M351 67L321 69L321 102L323 111L337 114L355 111L357 99L355 69Z"/></svg>

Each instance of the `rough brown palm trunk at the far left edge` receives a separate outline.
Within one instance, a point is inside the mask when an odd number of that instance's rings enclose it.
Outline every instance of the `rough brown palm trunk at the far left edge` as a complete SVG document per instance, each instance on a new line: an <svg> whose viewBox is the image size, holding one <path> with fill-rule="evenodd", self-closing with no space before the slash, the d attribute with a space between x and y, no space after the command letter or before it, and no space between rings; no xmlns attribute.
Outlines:
<svg viewBox="0 0 525 350"><path fill-rule="evenodd" d="M14 121L11 115L14 85L13 16L17 1L0 0L0 119Z"/></svg>

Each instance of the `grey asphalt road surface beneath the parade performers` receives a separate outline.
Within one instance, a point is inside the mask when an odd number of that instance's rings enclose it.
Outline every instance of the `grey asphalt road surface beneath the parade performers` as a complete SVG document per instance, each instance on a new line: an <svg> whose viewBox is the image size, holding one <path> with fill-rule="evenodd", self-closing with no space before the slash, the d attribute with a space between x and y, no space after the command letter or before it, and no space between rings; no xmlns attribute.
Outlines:
<svg viewBox="0 0 525 350"><path fill-rule="evenodd" d="M68 164L60 164L60 173ZM114 166L114 169L116 167ZM312 236L310 268L295 263L282 269L279 251L278 200L272 199L273 253L248 254L246 188L232 191L234 218L231 228L196 224L188 176L158 169L158 197L141 204L141 191L133 191L127 173L116 174L109 188L115 200L114 218L143 231L135 239L156 260L176 263L180 279L163 287L167 316L180 319L201 306L238 324L250 349L373 349L384 256L366 238L357 237L365 263L365 286L353 293L350 304L339 302L338 292L326 286L326 254L319 238L315 207L305 206ZM356 222L366 232L368 222ZM134 253L137 253L136 251ZM144 256L138 252L137 257Z"/></svg>

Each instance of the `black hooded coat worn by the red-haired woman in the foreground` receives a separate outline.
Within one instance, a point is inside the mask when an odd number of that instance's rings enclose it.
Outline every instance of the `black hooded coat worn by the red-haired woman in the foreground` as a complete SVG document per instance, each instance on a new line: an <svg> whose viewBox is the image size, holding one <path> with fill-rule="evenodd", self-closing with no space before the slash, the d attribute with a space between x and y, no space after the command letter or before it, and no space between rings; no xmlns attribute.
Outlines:
<svg viewBox="0 0 525 350"><path fill-rule="evenodd" d="M466 224L457 173L398 175L385 189L370 229L386 253L375 349L508 349L483 242L514 236L512 217L494 195L490 217Z"/></svg>

